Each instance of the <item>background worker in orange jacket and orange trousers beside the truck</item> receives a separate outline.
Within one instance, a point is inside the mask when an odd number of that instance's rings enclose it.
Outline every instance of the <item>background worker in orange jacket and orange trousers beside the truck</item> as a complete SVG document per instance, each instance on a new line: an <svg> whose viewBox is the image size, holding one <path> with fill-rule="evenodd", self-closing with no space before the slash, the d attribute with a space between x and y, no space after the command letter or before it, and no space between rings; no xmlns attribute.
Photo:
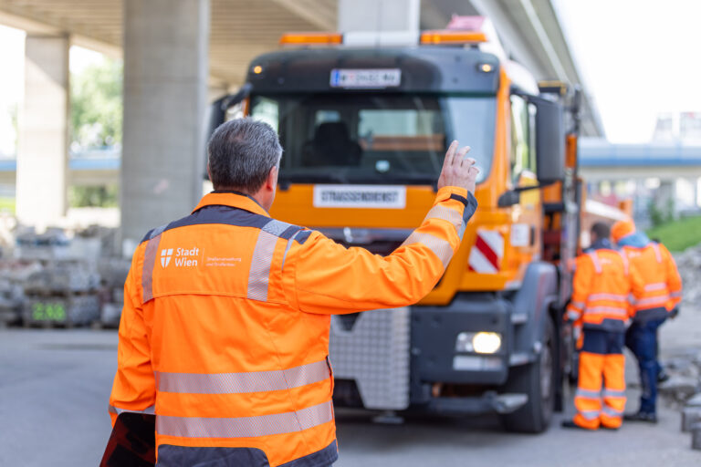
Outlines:
<svg viewBox="0 0 701 467"><path fill-rule="evenodd" d="M643 280L625 254L613 249L609 226L595 223L591 248L577 258L566 317L581 327L580 371L573 420L565 428L617 430L625 408L623 338L629 296L641 296ZM603 384L602 384L603 383Z"/></svg>

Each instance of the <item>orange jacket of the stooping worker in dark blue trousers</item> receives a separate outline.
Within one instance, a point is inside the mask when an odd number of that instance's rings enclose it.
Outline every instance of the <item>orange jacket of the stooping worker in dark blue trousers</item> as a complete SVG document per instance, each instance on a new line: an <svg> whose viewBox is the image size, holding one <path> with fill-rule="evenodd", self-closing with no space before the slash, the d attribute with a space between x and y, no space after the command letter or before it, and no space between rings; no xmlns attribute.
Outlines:
<svg viewBox="0 0 701 467"><path fill-rule="evenodd" d="M640 272L645 284L643 296L633 302L633 320L666 317L682 299L682 278L675 258L664 244L651 242L643 248L623 246L628 260Z"/></svg>

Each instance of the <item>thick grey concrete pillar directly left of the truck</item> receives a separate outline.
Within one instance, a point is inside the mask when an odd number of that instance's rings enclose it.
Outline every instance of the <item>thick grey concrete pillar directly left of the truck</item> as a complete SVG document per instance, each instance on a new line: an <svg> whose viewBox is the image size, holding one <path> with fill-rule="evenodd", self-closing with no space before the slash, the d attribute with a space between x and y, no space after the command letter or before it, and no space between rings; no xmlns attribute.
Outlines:
<svg viewBox="0 0 701 467"><path fill-rule="evenodd" d="M209 0L124 0L122 238L202 196Z"/></svg>

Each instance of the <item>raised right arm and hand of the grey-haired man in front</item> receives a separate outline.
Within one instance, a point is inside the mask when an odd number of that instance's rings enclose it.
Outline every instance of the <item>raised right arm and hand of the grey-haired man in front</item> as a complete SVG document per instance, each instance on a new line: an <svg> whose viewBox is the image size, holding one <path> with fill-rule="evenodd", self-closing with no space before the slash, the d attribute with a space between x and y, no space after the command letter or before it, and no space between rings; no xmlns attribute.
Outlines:
<svg viewBox="0 0 701 467"><path fill-rule="evenodd" d="M438 194L424 222L392 254L345 248L321 233L291 248L283 275L292 306L342 314L411 305L445 272L476 211L475 161L455 141L445 155Z"/></svg>

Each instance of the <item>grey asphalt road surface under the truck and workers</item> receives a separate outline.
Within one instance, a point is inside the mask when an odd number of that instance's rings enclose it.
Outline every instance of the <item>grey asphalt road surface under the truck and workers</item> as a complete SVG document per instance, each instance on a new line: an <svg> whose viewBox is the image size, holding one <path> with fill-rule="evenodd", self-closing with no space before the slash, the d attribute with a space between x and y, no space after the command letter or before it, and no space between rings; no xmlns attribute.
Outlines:
<svg viewBox="0 0 701 467"><path fill-rule="evenodd" d="M665 327L669 348L701 348L701 312ZM0 466L98 465L110 434L116 350L114 331L0 330ZM635 376L628 371L628 379ZM629 389L629 396L634 410L637 394ZM679 413L663 407L660 419L584 432L560 429L558 414L536 436L504 433L494 418L382 425L340 412L336 467L701 465L701 451L691 451L689 435L679 431Z"/></svg>

